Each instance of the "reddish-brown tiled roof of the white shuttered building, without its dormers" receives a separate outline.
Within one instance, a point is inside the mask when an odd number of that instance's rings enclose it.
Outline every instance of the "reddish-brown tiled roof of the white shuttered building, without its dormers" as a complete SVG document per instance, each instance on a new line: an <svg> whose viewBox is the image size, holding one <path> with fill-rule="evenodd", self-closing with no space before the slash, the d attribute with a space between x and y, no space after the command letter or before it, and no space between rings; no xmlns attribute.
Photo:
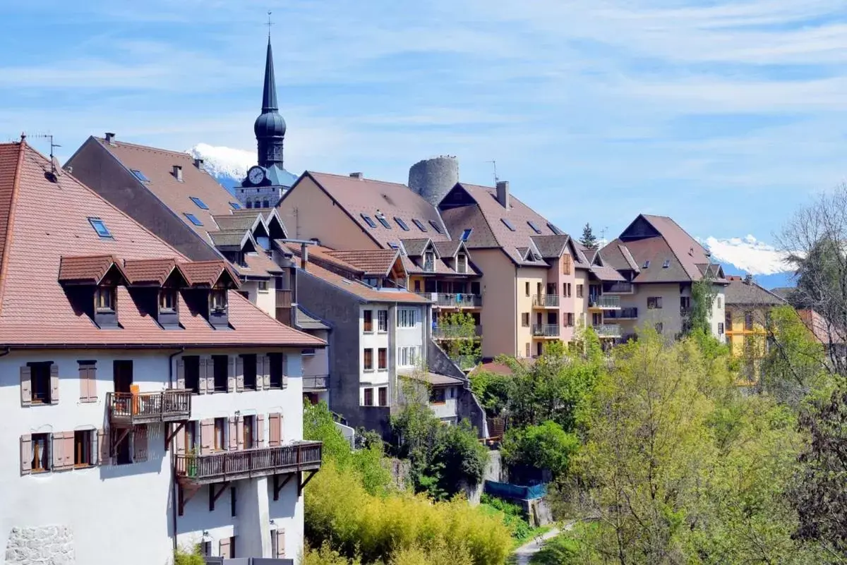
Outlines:
<svg viewBox="0 0 847 565"><path fill-rule="evenodd" d="M185 329L163 330L139 310L123 286L117 289L116 301L123 329L99 329L87 315L75 312L58 282L63 255L84 252L177 261L185 261L185 257L71 175L62 174L51 183L45 178L49 160L28 145L0 145L0 156L8 156L9 151L22 153L23 162L11 181L5 176L9 168L0 167L0 202L9 202L8 209L0 211L2 222L8 225L2 245L5 278L0 296L0 347L324 345L322 340L268 317L234 291L229 293L229 320L234 331L213 329L189 309L181 295L180 323ZM7 194L10 190L11 196ZM50 218L47 225L45 217ZM100 218L113 237L99 237L89 217Z"/></svg>

